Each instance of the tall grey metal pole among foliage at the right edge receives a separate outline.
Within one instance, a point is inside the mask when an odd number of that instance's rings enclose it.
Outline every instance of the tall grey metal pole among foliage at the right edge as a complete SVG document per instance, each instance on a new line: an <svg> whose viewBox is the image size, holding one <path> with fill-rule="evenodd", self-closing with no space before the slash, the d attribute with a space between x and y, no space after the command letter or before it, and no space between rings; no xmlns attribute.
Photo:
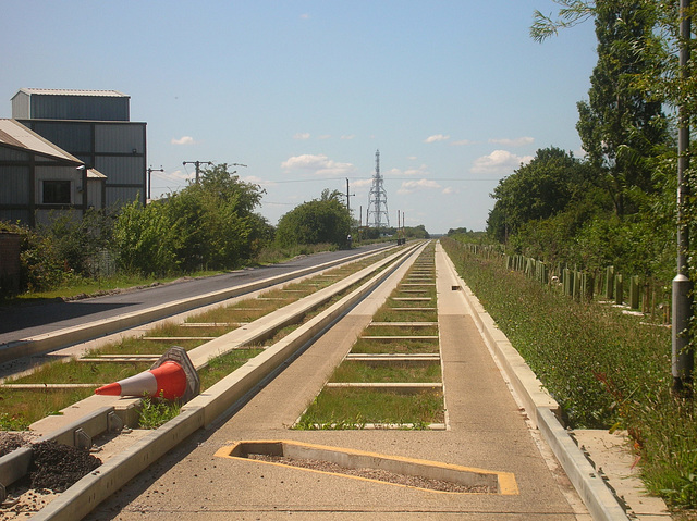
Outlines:
<svg viewBox="0 0 697 521"><path fill-rule="evenodd" d="M689 39L692 20L688 16L690 0L680 0L680 71L681 79L688 78ZM695 353L689 347L689 322L692 319L692 283L687 269L689 234L685 222L685 202L689 188L685 172L689 165L689 114L684 101L677 111L677 274L673 278L673 327L672 327L672 373L673 393L692 396Z"/></svg>

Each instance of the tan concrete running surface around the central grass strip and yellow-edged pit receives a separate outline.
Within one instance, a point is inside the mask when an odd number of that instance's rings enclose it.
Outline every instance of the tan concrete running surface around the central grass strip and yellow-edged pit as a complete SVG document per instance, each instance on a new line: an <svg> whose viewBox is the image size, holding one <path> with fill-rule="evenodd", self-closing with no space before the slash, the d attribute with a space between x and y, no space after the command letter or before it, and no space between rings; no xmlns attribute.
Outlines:
<svg viewBox="0 0 697 521"><path fill-rule="evenodd" d="M412 259L413 260L413 259ZM565 479L555 475L529 423L479 334L464 291L437 255L447 431L295 431L289 427L344 359L372 314L406 272L386 284L307 348L281 374L216 430L185 444L134 479L86 519L469 519L575 520L590 516ZM518 494L443 494L217 457L250 439L286 439L510 472ZM559 474L559 472L557 472ZM597 519L626 519L597 518Z"/></svg>

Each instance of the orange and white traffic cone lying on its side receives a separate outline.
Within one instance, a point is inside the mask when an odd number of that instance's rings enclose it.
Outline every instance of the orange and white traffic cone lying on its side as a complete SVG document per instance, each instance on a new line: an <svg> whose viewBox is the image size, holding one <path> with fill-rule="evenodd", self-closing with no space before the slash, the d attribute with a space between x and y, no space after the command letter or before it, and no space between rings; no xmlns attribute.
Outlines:
<svg viewBox="0 0 697 521"><path fill-rule="evenodd" d="M186 351L172 347L150 370L143 371L95 390L106 396L158 396L168 400L188 401L199 390L198 374Z"/></svg>

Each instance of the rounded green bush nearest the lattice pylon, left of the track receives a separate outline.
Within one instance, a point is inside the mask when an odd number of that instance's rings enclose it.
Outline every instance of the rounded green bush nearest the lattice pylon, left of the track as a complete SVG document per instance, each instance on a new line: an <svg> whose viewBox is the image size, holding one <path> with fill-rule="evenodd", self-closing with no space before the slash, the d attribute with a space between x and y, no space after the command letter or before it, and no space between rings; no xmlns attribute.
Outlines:
<svg viewBox="0 0 697 521"><path fill-rule="evenodd" d="M345 246L351 234L351 215L340 197L341 193L325 189L319 199L304 202L281 216L276 230L277 244Z"/></svg>

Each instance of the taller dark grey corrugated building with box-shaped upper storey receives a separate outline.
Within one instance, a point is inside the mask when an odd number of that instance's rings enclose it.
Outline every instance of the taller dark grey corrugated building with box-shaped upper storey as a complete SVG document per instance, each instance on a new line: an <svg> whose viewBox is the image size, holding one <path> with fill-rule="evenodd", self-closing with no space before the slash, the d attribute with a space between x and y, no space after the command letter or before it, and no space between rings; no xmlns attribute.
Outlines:
<svg viewBox="0 0 697 521"><path fill-rule="evenodd" d="M147 195L147 124L130 121L130 101L115 90L23 88L12 117L105 174L105 204L114 210Z"/></svg>

